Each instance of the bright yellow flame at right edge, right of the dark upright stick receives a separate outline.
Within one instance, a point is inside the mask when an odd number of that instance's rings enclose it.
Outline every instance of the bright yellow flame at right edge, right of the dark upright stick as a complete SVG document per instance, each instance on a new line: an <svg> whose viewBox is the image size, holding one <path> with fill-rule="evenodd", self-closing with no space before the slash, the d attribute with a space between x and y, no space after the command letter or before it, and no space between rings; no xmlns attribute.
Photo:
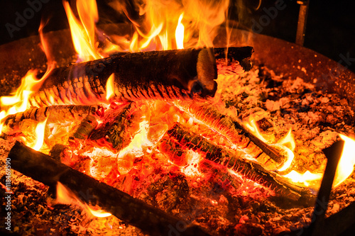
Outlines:
<svg viewBox="0 0 355 236"><path fill-rule="evenodd" d="M354 172L355 164L355 140L345 135L339 134L344 140L344 147L342 150L342 156L339 159L337 172L335 173L333 186L338 186Z"/></svg>

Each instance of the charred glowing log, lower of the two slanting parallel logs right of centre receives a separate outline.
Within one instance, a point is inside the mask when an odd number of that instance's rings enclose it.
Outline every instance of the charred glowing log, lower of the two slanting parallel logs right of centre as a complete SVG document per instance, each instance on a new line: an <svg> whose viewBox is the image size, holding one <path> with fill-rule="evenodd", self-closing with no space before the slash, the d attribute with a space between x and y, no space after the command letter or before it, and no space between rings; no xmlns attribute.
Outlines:
<svg viewBox="0 0 355 236"><path fill-rule="evenodd" d="M251 162L249 159L242 157L242 152L229 151L214 143L205 139L201 135L192 133L181 125L175 124L173 128L167 132L170 140L172 140L173 147L170 148L188 148L195 152L202 152L205 154L205 159L212 161L217 164L221 164L231 170L242 174L247 179L263 184L263 186L268 186L270 189L275 191L279 196L288 197L293 200L300 198L301 194L305 191L298 186L291 186L288 181L283 179L283 177L274 174L273 172L268 172L260 164ZM163 139L163 151L166 149L166 145L171 142L166 142L166 138Z"/></svg>

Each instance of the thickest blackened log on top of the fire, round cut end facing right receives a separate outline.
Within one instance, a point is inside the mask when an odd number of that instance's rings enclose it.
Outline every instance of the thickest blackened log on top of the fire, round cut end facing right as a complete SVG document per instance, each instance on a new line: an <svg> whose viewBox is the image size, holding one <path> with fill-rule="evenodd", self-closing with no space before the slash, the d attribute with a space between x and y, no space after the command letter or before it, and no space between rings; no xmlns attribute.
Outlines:
<svg viewBox="0 0 355 236"><path fill-rule="evenodd" d="M31 95L32 106L97 104L107 101L114 77L117 101L187 99L214 96L217 67L209 49L119 53L111 57L53 69Z"/></svg>

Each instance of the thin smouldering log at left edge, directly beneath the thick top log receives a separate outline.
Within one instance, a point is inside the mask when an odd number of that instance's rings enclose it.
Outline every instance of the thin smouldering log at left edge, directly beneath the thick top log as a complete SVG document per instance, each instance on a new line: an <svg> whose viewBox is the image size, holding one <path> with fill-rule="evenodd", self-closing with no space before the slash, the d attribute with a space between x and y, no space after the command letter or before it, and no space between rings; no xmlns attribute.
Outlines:
<svg viewBox="0 0 355 236"><path fill-rule="evenodd" d="M98 109L99 106L84 105L59 105L29 108L26 111L6 116L6 118L4 118L2 132L11 133L13 130L18 130L19 124L23 120L43 122L45 119L48 119L48 123L64 123L67 120L82 120L88 115L93 116Z"/></svg>

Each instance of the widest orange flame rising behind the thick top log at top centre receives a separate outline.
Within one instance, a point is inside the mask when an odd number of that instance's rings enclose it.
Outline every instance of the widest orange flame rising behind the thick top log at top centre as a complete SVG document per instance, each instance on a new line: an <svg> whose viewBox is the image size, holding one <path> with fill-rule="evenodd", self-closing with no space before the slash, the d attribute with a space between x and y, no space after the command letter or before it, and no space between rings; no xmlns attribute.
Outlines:
<svg viewBox="0 0 355 236"><path fill-rule="evenodd" d="M113 1L110 5L125 13L134 27L131 52L212 47L217 26L226 21L229 8L229 0L133 0L129 6L125 4ZM182 25L182 19L186 26ZM184 42L187 44L183 45Z"/></svg>

